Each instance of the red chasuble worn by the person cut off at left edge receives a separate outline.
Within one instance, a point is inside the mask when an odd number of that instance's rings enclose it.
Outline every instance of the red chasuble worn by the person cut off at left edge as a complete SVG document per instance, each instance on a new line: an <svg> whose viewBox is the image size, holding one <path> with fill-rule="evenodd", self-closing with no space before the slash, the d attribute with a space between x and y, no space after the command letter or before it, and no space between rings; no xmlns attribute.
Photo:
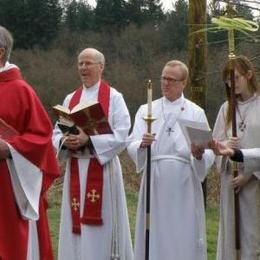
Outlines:
<svg viewBox="0 0 260 260"><path fill-rule="evenodd" d="M0 118L20 133L9 143L43 172L37 230L40 259L51 260L45 194L59 175L51 142L52 124L35 92L16 68L0 73L0 99ZM0 259L26 260L28 221L22 219L16 205L5 160L0 160L0 184Z"/></svg>

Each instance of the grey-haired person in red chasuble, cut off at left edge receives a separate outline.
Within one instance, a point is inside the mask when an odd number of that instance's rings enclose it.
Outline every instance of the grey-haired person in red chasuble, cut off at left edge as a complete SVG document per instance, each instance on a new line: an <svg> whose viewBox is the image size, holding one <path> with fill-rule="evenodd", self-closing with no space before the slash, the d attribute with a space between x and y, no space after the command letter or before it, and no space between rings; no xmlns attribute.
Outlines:
<svg viewBox="0 0 260 260"><path fill-rule="evenodd" d="M46 191L59 175L52 124L0 26L0 259L51 260Z"/></svg>

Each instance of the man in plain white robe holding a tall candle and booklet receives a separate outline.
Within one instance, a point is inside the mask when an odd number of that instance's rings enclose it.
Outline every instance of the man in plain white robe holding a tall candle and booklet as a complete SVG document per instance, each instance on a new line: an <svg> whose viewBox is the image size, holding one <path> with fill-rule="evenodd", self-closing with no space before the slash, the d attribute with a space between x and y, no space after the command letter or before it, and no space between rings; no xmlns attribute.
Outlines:
<svg viewBox="0 0 260 260"><path fill-rule="evenodd" d="M206 122L202 108L186 99L183 90L188 68L180 61L166 63L161 74L163 97L152 102L153 134L146 133L147 105L135 117L128 152L143 172L135 236L135 260L145 255L145 163L151 146L150 260L207 258L205 216L201 182L212 165L210 150L189 147L178 120Z"/></svg>

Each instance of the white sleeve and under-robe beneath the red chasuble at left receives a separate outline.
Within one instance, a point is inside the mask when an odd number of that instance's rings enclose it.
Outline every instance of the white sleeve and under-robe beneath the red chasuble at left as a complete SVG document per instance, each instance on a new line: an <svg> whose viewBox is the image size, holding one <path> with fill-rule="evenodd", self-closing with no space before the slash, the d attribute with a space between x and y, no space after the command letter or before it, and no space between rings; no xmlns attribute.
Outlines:
<svg viewBox="0 0 260 260"><path fill-rule="evenodd" d="M6 162L16 203L21 216L29 221L27 260L38 260L40 256L36 221L39 219L42 172L11 145L8 146L12 159L7 159Z"/></svg>

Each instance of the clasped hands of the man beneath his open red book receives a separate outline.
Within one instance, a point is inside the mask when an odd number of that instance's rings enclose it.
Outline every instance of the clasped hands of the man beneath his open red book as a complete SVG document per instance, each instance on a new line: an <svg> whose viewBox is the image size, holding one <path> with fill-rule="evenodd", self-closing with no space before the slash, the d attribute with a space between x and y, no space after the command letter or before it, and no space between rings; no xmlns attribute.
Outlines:
<svg viewBox="0 0 260 260"><path fill-rule="evenodd" d="M78 127L78 129L78 135L69 134L63 137L66 138L63 145L65 145L70 150L76 151L86 145L89 141L89 136L81 128Z"/></svg>

